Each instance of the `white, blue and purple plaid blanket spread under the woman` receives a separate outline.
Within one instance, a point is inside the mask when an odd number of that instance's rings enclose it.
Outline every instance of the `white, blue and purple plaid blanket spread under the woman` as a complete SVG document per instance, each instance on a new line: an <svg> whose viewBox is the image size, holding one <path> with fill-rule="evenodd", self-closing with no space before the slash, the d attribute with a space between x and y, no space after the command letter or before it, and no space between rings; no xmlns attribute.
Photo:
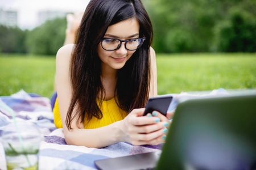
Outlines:
<svg viewBox="0 0 256 170"><path fill-rule="evenodd" d="M47 97L19 91L11 96L0 97L0 136L2 130L12 121L9 109L16 120L25 120L37 125L44 135L40 143L39 169L97 169L95 160L133 155L159 150L158 146L133 146L119 142L105 148L87 148L67 145L63 129L56 129L53 123L51 103ZM0 169L6 170L5 151L0 143Z"/></svg>

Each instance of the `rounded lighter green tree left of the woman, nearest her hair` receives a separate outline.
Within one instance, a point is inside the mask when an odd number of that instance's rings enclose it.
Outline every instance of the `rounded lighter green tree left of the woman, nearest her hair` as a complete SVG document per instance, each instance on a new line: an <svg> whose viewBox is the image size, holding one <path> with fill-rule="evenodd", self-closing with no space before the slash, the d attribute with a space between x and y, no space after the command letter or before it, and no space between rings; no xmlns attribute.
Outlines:
<svg viewBox="0 0 256 170"><path fill-rule="evenodd" d="M67 22L65 18L48 20L27 34L28 52L32 54L55 55L63 46Z"/></svg>

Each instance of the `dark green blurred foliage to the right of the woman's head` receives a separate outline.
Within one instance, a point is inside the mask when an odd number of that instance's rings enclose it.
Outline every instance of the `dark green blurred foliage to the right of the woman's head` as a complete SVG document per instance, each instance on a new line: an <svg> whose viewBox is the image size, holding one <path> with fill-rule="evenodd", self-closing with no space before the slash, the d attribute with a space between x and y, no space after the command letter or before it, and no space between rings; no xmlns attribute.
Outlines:
<svg viewBox="0 0 256 170"><path fill-rule="evenodd" d="M256 1L143 2L154 27L156 52L255 52Z"/></svg>

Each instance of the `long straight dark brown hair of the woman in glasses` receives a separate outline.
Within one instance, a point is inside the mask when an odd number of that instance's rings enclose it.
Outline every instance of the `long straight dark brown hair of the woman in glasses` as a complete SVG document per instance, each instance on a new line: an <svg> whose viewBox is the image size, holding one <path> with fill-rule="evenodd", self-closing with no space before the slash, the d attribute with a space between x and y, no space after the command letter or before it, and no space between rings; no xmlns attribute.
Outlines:
<svg viewBox="0 0 256 170"><path fill-rule="evenodd" d="M104 37L109 25L129 18L138 20L139 36L146 37L141 48L117 71L115 87L117 104L123 111L131 112L146 104L150 84L150 55L153 32L150 18L140 0L91 0L86 7L80 27L77 31L76 45L72 52L70 77L72 99L69 105L66 125L71 122L90 121L92 117L102 118L97 105L97 97L105 98L101 82L101 60L97 55L97 46ZM75 113L74 108L76 109Z"/></svg>

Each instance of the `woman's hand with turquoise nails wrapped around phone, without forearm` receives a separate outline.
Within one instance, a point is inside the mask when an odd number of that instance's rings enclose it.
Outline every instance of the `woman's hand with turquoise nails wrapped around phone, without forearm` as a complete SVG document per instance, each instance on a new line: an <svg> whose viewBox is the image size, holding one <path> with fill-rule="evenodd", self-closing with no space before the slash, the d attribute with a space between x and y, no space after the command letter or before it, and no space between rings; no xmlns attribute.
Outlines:
<svg viewBox="0 0 256 170"><path fill-rule="evenodd" d="M142 116L144 108L134 109L121 121L122 141L132 145L158 145L164 142L168 118L161 116ZM164 118L165 117L165 118Z"/></svg>

